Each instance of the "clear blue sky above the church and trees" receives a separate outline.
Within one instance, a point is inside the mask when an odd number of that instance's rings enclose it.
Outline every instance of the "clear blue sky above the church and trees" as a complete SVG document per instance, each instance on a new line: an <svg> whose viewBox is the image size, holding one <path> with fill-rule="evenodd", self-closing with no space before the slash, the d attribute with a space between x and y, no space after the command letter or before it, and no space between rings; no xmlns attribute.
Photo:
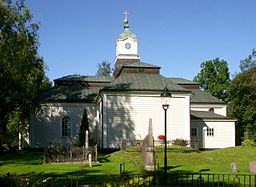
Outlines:
<svg viewBox="0 0 256 187"><path fill-rule="evenodd" d="M216 57L239 72L256 48L255 0L27 0L40 21L39 53L50 80L95 75L97 64L114 65L122 13L139 38L141 61L167 77L193 79L200 64Z"/></svg>

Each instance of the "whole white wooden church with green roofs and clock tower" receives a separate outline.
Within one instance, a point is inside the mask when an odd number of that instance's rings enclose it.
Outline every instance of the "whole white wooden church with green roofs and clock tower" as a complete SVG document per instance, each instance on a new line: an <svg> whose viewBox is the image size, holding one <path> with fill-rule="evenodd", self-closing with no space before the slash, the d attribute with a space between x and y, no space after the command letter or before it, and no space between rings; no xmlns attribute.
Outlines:
<svg viewBox="0 0 256 187"><path fill-rule="evenodd" d="M148 132L164 135L164 110L160 94L171 93L167 110L167 140L198 141L200 148L235 146L235 120L227 117L227 104L183 78L164 77L161 67L141 62L138 39L124 20L116 40L112 77L69 75L54 80L42 93L43 103L31 114L30 146L70 146L78 142L86 109L91 138L101 147L135 145Z"/></svg>

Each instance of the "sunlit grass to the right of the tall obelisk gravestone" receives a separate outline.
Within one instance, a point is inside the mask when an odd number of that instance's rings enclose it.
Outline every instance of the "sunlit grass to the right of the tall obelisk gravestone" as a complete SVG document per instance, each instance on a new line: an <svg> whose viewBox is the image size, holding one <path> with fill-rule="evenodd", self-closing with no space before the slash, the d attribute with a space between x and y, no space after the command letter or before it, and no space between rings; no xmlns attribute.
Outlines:
<svg viewBox="0 0 256 187"><path fill-rule="evenodd" d="M256 160L256 147L232 147L200 153L169 153L169 172L187 173L232 173L231 163L236 162L239 173L249 173L249 162ZM157 154L157 160L163 165L163 154Z"/></svg>

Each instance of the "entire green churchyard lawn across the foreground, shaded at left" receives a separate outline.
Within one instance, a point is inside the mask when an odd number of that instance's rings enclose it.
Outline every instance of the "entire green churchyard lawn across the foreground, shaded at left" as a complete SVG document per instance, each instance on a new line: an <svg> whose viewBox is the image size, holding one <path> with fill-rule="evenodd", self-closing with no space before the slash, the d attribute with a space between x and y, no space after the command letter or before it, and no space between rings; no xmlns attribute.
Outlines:
<svg viewBox="0 0 256 187"><path fill-rule="evenodd" d="M178 153L168 152L168 172L231 173L230 164L236 162L239 173L249 172L249 162L256 160L256 147L233 147L214 151ZM163 166L163 152L157 151L157 163ZM92 168L83 168L82 164L43 164L42 152L20 152L0 156L0 175L15 172L18 175L37 174L119 174L120 164L125 163L130 173L143 172L141 153L136 151L118 151L100 158L100 163Z"/></svg>

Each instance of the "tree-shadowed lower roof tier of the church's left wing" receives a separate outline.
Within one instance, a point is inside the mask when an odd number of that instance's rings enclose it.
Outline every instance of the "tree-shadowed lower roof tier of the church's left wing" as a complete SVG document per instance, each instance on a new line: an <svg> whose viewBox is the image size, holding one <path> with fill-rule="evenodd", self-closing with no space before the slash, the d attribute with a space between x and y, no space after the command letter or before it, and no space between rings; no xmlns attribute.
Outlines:
<svg viewBox="0 0 256 187"><path fill-rule="evenodd" d="M54 86L40 94L46 101L94 101L100 88L82 86Z"/></svg>

